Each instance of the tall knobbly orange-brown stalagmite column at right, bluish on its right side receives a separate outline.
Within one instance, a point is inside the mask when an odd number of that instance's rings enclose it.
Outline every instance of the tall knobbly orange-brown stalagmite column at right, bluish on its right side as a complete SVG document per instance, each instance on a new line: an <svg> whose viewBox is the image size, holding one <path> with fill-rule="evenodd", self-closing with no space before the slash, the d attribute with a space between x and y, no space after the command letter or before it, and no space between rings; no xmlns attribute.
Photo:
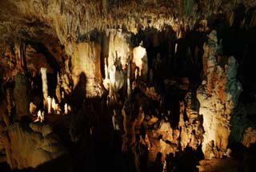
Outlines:
<svg viewBox="0 0 256 172"><path fill-rule="evenodd" d="M226 153L230 118L242 91L242 86L236 79L238 64L233 57L218 55L217 41L214 30L210 33L208 43L204 45L202 61L205 77L197 91L199 114L203 116L205 130L202 142L205 158L220 158Z"/></svg>

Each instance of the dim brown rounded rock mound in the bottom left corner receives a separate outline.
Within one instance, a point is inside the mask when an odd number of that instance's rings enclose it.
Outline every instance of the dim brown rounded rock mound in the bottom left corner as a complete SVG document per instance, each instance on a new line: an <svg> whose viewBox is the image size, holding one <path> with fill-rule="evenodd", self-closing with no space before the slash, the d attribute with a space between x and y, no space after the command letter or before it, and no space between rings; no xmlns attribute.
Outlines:
<svg viewBox="0 0 256 172"><path fill-rule="evenodd" d="M37 167L66 153L49 126L31 124L30 127L15 122L6 134L2 134L1 141L11 169Z"/></svg>

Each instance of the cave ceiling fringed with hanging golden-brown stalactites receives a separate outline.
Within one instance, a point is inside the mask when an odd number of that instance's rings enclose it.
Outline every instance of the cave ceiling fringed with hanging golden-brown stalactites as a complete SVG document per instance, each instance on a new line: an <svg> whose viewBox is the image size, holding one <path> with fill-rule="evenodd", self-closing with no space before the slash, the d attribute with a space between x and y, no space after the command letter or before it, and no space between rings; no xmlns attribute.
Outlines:
<svg viewBox="0 0 256 172"><path fill-rule="evenodd" d="M181 0L1 0L1 50L4 43L14 38L33 39L35 42L58 43L67 46L79 42L92 30L122 29L133 34L153 27L162 30L172 26L174 31L191 30L198 22L225 14L234 20L234 7L239 1L181 1ZM243 1L246 9L254 1Z"/></svg>

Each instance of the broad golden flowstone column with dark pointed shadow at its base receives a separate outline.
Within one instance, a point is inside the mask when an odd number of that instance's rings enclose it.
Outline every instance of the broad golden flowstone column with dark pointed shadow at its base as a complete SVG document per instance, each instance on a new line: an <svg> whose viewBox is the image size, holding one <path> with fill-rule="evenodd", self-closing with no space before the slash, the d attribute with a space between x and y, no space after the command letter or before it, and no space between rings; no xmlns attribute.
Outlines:
<svg viewBox="0 0 256 172"><path fill-rule="evenodd" d="M85 75L84 88L86 90L86 97L96 97L102 95L101 74L101 46L96 42L82 42L74 44L74 54L72 55L72 79L74 81L74 88L78 82L82 82L82 73Z"/></svg>

